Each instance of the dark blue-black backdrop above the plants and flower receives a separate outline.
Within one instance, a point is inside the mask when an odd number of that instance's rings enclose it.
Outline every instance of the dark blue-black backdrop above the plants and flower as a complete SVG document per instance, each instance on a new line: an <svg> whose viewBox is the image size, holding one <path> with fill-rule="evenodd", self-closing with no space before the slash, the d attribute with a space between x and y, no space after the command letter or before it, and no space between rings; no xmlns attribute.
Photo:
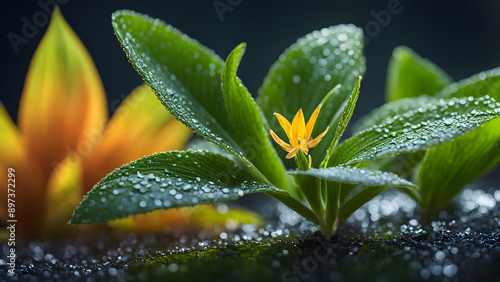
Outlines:
<svg viewBox="0 0 500 282"><path fill-rule="evenodd" d="M371 21L376 22L374 14L388 10L388 2L373 0L60 2L63 15L97 65L108 101L123 97L141 84L113 34L110 18L117 9L161 18L222 58L238 43L247 42L238 75L254 94L270 65L298 37L340 23L354 23L365 29ZM214 2L236 5L232 11L225 11L221 20ZM32 21L33 15L43 9L37 1L0 3L1 101L15 117L29 62L46 26L14 52L7 34L21 35L22 18ZM387 63L398 45L407 45L431 59L455 80L500 66L500 1L401 1L400 7L402 11L392 14L385 27L379 24L380 32L371 36L366 46L367 72L355 118L383 103Z"/></svg>

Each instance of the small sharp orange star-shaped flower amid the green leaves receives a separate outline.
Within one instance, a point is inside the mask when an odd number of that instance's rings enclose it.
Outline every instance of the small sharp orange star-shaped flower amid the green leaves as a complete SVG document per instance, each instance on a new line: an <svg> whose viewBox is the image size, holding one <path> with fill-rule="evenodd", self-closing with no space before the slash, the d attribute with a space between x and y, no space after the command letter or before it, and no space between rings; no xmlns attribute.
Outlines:
<svg viewBox="0 0 500 282"><path fill-rule="evenodd" d="M323 138L323 136L325 136L328 132L329 127L327 127L323 133L318 135L318 137L311 139L314 124L316 123L320 109L321 105L314 110L313 114L309 118L309 121L307 122L307 125L304 120L304 113L302 112L302 109L297 112L293 118L292 124L290 124L284 116L274 113L274 115L278 118L281 127L285 130L288 140L290 140L290 144L281 140L272 129L269 130L269 132L271 133L274 141L276 141L276 143L278 143L283 150L288 152L288 155L286 155L287 159L293 158L299 149L307 155L309 149L318 145L321 138ZM309 156L309 166L311 166L311 156Z"/></svg>

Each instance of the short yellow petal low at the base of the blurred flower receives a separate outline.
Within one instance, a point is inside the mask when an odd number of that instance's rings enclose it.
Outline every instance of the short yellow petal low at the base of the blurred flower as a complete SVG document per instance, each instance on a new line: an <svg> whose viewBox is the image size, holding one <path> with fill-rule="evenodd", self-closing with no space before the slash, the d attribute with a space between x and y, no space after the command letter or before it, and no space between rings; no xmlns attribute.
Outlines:
<svg viewBox="0 0 500 282"><path fill-rule="evenodd" d="M64 236L74 230L66 224L71 213L82 199L81 163L69 155L55 168L47 183L47 212L44 221L44 235Z"/></svg>

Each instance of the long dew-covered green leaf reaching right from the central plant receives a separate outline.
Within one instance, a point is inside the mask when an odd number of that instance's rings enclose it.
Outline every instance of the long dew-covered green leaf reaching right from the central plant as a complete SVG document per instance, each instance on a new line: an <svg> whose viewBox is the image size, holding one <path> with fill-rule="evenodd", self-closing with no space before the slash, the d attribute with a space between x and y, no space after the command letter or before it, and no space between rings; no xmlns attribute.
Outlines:
<svg viewBox="0 0 500 282"><path fill-rule="evenodd" d="M499 115L500 103L492 98L439 99L401 112L346 140L333 152L329 166L425 150L462 136Z"/></svg>

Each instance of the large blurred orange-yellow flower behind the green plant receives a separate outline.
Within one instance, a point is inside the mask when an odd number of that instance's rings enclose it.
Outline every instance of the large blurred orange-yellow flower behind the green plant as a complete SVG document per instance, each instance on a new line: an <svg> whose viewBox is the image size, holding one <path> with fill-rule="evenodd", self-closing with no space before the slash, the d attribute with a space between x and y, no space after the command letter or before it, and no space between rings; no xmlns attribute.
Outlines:
<svg viewBox="0 0 500 282"><path fill-rule="evenodd" d="M0 102L4 224L16 219L16 233L25 238L64 233L83 195L107 173L144 155L182 149L192 134L146 85L121 103L109 123L107 108L92 58L56 8L29 67L19 129ZM6 185L9 168L15 169L15 192ZM15 197L12 215L8 193L15 194L9 196ZM184 218L175 210L161 212L174 221Z"/></svg>

